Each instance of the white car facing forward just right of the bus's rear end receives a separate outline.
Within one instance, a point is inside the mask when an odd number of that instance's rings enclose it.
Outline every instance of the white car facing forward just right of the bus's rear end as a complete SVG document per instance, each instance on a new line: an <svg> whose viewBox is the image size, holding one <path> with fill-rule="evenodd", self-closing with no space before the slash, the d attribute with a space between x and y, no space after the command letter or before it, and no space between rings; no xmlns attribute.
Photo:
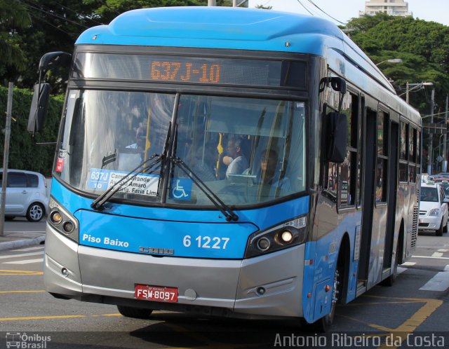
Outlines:
<svg viewBox="0 0 449 349"><path fill-rule="evenodd" d="M440 184L428 181L421 184L420 219L418 230L435 231L442 236L448 231L448 202Z"/></svg>

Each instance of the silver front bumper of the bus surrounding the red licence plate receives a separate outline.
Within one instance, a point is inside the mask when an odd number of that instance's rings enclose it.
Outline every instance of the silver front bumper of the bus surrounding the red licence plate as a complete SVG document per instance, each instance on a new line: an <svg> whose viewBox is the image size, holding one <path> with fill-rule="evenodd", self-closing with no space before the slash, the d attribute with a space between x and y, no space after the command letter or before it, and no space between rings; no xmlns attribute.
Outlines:
<svg viewBox="0 0 449 349"><path fill-rule="evenodd" d="M44 283L52 294L81 300L302 317L303 265L304 245L243 260L151 256L78 245L47 226ZM178 301L135 300L135 284L177 287Z"/></svg>

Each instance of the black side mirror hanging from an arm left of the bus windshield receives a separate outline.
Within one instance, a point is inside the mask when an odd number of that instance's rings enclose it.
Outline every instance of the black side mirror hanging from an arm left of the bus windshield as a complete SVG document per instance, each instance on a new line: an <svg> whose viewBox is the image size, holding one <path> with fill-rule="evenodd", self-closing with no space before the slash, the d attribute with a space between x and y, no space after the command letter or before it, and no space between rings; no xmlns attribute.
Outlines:
<svg viewBox="0 0 449 349"><path fill-rule="evenodd" d="M37 83L34 85L33 100L28 116L28 132L37 133L43 130L48 100L50 99L51 87L49 83Z"/></svg>

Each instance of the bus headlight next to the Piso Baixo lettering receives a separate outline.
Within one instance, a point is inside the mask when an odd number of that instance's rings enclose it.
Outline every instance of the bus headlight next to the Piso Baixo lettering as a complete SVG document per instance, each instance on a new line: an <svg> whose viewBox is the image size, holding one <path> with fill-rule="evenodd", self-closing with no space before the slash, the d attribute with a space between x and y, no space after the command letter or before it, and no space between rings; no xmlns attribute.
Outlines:
<svg viewBox="0 0 449 349"><path fill-rule="evenodd" d="M48 224L67 238L79 242L78 220L67 212L53 196L48 201L48 207L50 208Z"/></svg>

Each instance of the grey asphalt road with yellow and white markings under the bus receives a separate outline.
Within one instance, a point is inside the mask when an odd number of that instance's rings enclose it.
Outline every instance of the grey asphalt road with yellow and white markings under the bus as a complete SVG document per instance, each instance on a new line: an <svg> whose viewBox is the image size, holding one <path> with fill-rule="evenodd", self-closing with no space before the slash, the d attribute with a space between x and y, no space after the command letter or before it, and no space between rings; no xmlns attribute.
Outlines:
<svg viewBox="0 0 449 349"><path fill-rule="evenodd" d="M447 233L420 234L395 285L374 287L339 306L327 335L304 331L295 321L170 312L126 318L115 306L53 298L43 289L42 261L39 245L0 252L0 348L18 336L20 343L44 348L449 348Z"/></svg>

